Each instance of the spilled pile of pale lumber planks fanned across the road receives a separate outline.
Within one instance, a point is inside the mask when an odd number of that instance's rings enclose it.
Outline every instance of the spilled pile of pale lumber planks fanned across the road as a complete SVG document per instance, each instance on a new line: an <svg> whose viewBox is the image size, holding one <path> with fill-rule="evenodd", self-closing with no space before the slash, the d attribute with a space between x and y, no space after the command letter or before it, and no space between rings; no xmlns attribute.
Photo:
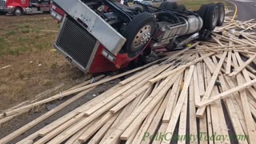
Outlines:
<svg viewBox="0 0 256 144"><path fill-rule="evenodd" d="M230 143L234 137L239 143L256 142L254 34L214 33L209 42L195 42L162 55L166 57L158 62L53 96L80 92L75 99L104 82L134 73L18 143ZM10 142L62 107L22 126L0 143ZM235 135L229 135L230 129Z"/></svg>

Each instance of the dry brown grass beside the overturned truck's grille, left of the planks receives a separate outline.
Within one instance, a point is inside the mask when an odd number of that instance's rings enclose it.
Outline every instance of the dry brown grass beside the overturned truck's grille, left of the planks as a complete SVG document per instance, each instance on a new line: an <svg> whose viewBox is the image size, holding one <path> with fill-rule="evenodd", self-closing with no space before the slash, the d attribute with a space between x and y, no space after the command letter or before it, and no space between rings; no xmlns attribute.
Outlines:
<svg viewBox="0 0 256 144"><path fill-rule="evenodd" d="M50 14L0 17L0 68L11 65L0 70L0 111L60 83L67 90L86 78L53 50L58 33L42 31L58 30Z"/></svg>

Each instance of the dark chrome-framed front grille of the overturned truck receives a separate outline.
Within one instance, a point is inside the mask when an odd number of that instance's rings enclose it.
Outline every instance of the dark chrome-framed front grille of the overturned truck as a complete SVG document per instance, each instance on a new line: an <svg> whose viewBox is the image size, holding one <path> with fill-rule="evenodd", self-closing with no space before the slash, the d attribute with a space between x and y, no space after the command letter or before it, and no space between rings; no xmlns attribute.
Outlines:
<svg viewBox="0 0 256 144"><path fill-rule="evenodd" d="M66 17L55 47L79 69L87 72L94 54L98 50L98 42L73 18Z"/></svg>

